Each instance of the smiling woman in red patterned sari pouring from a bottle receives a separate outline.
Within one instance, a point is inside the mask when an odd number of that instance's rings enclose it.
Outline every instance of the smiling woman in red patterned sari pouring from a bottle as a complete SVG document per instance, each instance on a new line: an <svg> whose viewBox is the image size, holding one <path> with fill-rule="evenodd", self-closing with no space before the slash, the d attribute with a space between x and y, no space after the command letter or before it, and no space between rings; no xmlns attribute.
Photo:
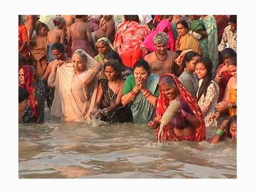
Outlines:
<svg viewBox="0 0 256 192"><path fill-rule="evenodd" d="M173 74L167 73L159 80L160 96L156 101L156 115L148 123L150 128L159 132L161 118L170 103L177 99L181 105L174 118L163 127L160 141L203 141L205 140L205 123L203 114L197 105L196 98L190 94Z"/></svg>

